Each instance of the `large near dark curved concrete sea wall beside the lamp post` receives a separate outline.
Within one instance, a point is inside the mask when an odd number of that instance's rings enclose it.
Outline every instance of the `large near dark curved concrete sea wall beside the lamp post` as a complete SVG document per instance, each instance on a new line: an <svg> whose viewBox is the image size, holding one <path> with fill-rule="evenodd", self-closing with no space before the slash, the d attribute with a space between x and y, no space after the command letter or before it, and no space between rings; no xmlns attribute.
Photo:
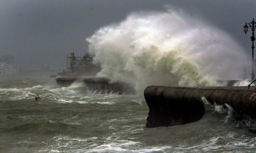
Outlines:
<svg viewBox="0 0 256 153"><path fill-rule="evenodd" d="M146 127L172 126L200 120L205 113L202 97L211 104L226 103L238 114L256 117L256 92L247 87L148 86L144 90L144 97L150 109Z"/></svg>

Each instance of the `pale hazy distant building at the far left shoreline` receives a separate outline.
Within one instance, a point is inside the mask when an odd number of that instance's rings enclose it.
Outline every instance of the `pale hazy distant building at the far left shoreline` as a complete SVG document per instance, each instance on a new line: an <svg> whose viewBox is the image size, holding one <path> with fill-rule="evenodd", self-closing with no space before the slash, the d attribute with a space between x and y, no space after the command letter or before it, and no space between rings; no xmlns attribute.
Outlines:
<svg viewBox="0 0 256 153"><path fill-rule="evenodd" d="M17 66L13 63L12 57L0 58L0 77L16 76Z"/></svg>

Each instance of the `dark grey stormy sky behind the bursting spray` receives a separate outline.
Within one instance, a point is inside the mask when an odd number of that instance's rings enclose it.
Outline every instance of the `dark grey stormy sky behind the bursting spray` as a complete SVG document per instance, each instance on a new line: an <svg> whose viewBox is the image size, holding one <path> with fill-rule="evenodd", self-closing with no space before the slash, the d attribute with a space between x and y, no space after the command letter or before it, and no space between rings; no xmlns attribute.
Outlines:
<svg viewBox="0 0 256 153"><path fill-rule="evenodd" d="M251 31L245 35L243 25L256 17L256 1L0 0L0 57L14 56L20 68L65 68L66 54L84 55L86 38L100 27L132 12L166 11L166 5L226 31L251 56Z"/></svg>

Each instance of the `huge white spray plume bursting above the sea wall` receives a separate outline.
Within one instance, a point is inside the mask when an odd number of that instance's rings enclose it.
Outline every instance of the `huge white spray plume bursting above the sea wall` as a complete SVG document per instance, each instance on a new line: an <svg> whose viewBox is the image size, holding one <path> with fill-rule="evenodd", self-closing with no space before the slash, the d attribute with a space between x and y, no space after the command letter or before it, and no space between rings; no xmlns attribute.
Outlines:
<svg viewBox="0 0 256 153"><path fill-rule="evenodd" d="M132 13L87 38L101 73L143 91L148 85L215 86L238 78L243 49L225 32L177 11Z"/></svg>

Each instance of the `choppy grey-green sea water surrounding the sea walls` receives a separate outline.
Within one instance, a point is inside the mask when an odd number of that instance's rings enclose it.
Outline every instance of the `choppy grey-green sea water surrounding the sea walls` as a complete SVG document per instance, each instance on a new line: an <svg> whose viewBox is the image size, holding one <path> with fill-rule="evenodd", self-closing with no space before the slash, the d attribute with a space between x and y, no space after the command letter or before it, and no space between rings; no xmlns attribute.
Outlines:
<svg viewBox="0 0 256 153"><path fill-rule="evenodd" d="M222 106L206 104L194 123L148 129L142 95L93 94L82 83L1 79L0 100L0 152L256 151L249 122Z"/></svg>

